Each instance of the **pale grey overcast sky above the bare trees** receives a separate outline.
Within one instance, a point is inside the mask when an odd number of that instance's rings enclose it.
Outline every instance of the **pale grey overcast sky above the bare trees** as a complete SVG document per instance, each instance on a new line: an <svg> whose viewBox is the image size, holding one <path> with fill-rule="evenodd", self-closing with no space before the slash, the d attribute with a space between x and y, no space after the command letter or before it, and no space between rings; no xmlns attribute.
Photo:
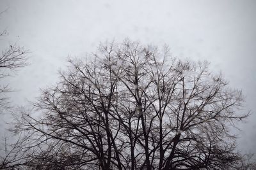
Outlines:
<svg viewBox="0 0 256 170"><path fill-rule="evenodd" d="M239 149L256 152L256 1L1 0L4 10L0 31L9 36L0 39L1 48L17 42L31 52L31 65L6 79L17 90L10 94L13 104L34 101L40 88L58 81L68 56L95 52L100 41L166 43L173 56L208 60L212 71L222 71L231 87L243 90L252 116L239 125Z"/></svg>

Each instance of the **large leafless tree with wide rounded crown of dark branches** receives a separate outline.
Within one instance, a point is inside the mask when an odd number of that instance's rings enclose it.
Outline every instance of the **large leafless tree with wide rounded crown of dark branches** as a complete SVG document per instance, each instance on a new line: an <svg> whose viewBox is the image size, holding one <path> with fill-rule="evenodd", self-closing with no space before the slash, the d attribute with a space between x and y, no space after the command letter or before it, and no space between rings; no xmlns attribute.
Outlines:
<svg viewBox="0 0 256 170"><path fill-rule="evenodd" d="M241 159L228 130L248 116L239 113L243 96L207 62L129 40L93 56L69 60L58 85L19 117L26 166L225 169Z"/></svg>

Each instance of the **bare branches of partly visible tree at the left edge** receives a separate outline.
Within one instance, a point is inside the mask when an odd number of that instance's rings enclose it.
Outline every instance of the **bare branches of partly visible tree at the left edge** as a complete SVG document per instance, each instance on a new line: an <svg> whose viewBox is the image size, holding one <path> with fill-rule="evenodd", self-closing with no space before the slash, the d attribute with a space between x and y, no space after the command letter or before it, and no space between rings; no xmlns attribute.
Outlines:
<svg viewBox="0 0 256 170"><path fill-rule="evenodd" d="M0 15L3 12L0 13ZM0 32L0 38L4 36L8 36L7 31ZM2 50L3 49L3 50ZM17 71L20 67L24 67L28 65L26 54L27 50L24 48L17 46L16 44L10 44L7 48L1 46L1 54L0 54L0 79L4 80L7 76L12 76L13 73ZM3 111L6 111L11 108L10 103L8 101L8 97L6 95L7 92L10 92L11 89L8 83L3 83L1 81L0 84L0 115ZM4 138L4 144L0 146L0 169L12 169L14 162L19 160L17 158L17 144L19 143L19 139L11 145L10 143L6 143L6 139Z"/></svg>

